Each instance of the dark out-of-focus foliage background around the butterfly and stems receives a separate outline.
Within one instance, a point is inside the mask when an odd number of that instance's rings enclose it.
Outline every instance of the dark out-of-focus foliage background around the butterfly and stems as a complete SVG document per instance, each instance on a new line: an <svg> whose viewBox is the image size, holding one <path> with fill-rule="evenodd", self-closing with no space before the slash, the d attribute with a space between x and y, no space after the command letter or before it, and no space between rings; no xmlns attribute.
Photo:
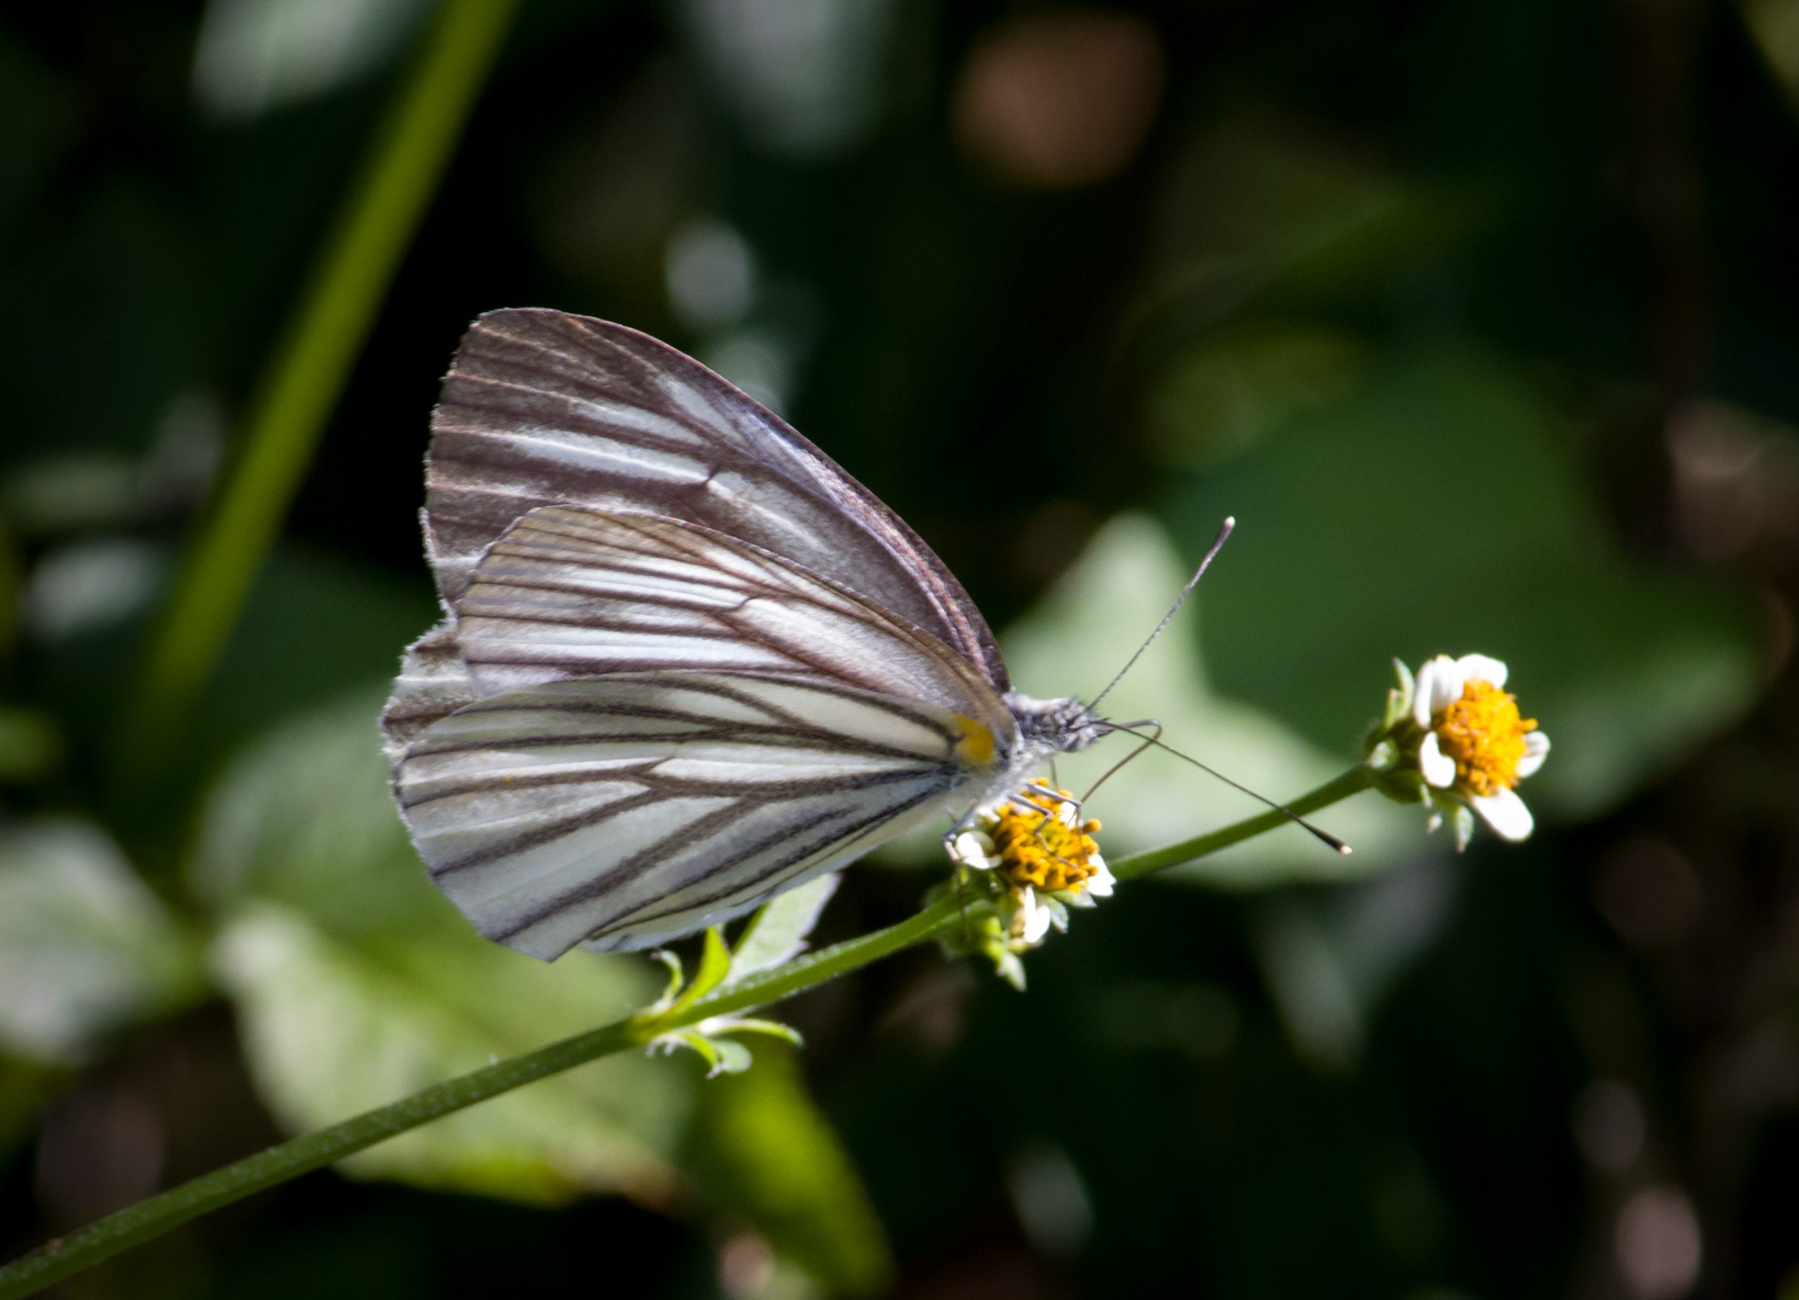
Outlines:
<svg viewBox="0 0 1799 1300"><path fill-rule="evenodd" d="M524 0L121 777L434 9L0 16L5 1253L653 996L475 940L376 752L437 376L556 306L786 414L1025 689L1094 690L1238 514L1132 707L1292 795L1389 658L1495 654L1538 833L1364 795L1349 876L1292 834L1132 885L1024 996L908 953L790 1007L802 1054L588 1066L63 1295L1799 1298L1799 0ZM1141 773L1108 847L1250 811Z"/></svg>

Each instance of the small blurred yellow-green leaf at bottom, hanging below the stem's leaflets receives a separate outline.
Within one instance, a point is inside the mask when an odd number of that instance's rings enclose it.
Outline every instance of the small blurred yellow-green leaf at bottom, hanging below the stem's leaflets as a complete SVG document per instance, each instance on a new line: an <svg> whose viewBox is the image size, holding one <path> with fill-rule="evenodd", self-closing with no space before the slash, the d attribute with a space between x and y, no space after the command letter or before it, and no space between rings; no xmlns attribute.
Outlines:
<svg viewBox="0 0 1799 1300"><path fill-rule="evenodd" d="M880 1219L790 1048L761 1045L754 1070L705 1088L685 1163L709 1199L745 1214L826 1289L885 1287L892 1264Z"/></svg>

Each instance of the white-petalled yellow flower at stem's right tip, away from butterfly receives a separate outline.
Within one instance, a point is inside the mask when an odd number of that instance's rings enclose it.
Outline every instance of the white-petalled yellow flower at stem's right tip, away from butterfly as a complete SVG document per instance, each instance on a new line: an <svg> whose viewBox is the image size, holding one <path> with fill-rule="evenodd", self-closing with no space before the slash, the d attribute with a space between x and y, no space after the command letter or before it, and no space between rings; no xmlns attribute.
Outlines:
<svg viewBox="0 0 1799 1300"><path fill-rule="evenodd" d="M1486 654L1437 654L1418 671L1410 712L1423 730L1418 771L1439 816L1459 804L1502 838L1526 840L1535 824L1515 788L1544 766L1549 737L1536 730L1536 719L1518 714L1504 690L1506 676L1506 665ZM1466 827L1457 822L1457 847L1464 840Z"/></svg>

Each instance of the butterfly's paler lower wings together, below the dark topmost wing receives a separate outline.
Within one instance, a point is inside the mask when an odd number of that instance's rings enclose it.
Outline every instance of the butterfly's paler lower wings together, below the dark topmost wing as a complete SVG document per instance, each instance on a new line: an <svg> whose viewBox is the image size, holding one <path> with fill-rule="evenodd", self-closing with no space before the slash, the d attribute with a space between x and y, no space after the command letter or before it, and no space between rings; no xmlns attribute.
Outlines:
<svg viewBox="0 0 1799 1300"><path fill-rule="evenodd" d="M1016 743L970 663L860 595L676 520L572 507L488 548L389 725L439 886L545 958L739 915L962 811Z"/></svg>

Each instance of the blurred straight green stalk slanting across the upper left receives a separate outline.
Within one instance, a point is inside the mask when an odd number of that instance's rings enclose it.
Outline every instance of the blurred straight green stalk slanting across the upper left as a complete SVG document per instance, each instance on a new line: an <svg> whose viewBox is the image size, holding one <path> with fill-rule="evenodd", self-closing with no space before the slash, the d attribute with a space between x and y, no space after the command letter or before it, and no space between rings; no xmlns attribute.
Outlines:
<svg viewBox="0 0 1799 1300"><path fill-rule="evenodd" d="M151 638L128 771L167 741L212 672L516 7L448 0L378 131Z"/></svg>

